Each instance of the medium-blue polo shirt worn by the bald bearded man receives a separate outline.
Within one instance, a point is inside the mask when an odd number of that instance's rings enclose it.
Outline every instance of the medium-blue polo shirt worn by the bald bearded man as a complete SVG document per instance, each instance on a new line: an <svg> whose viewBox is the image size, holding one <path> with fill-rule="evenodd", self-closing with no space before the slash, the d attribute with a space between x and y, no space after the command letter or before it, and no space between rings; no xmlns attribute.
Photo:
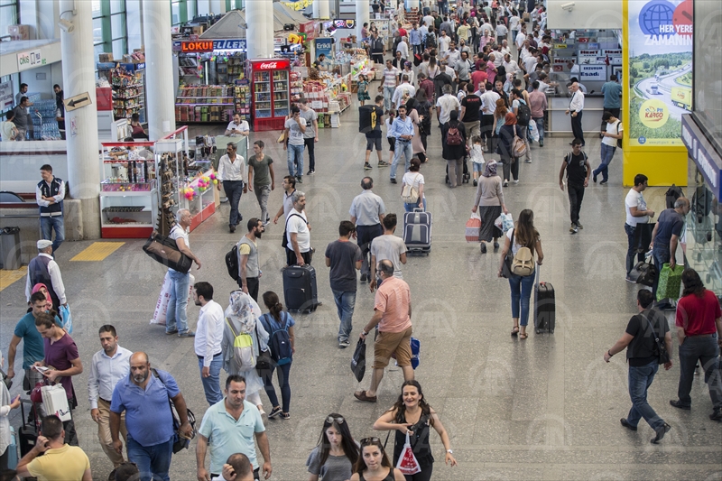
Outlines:
<svg viewBox="0 0 722 481"><path fill-rule="evenodd" d="M150 373L145 389L134 384L130 375L127 375L116 384L110 402L110 411L117 414L125 411L128 436L145 447L168 442L174 435L168 398L177 396L180 390L173 376L160 369L158 375L162 383Z"/></svg>

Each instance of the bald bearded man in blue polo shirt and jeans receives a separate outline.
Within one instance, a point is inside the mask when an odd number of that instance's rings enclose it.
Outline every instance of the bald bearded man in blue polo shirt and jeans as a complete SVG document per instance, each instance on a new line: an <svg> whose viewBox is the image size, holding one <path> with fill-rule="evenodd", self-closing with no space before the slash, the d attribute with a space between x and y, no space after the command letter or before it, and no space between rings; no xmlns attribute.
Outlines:
<svg viewBox="0 0 722 481"><path fill-rule="evenodd" d="M116 384L110 403L110 435L113 448L123 450L120 440L120 415L125 412L128 430L128 460L138 466L142 479L157 476L170 481L168 470L173 454L173 414L168 398L180 417L179 435L190 439L193 429L188 421L188 410L183 394L173 376L165 371L151 369L144 352L130 358L130 375Z"/></svg>

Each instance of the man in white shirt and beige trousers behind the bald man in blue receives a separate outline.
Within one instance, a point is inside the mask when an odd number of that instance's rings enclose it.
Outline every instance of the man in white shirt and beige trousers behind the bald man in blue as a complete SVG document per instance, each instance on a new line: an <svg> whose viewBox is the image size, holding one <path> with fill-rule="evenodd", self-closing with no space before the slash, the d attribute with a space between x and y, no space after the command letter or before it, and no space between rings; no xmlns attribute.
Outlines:
<svg viewBox="0 0 722 481"><path fill-rule="evenodd" d="M97 422L97 439L100 447L106 453L115 468L124 462L123 454L113 448L113 438L110 436L110 400L113 398L113 389L121 379L130 373L131 351L118 346L116 328L110 324L101 326L98 335L100 346L103 349L93 355L88 375L88 401L90 402L90 417ZM127 439L125 430L125 413L120 418L120 432L123 439ZM111 473L113 474L113 473Z"/></svg>

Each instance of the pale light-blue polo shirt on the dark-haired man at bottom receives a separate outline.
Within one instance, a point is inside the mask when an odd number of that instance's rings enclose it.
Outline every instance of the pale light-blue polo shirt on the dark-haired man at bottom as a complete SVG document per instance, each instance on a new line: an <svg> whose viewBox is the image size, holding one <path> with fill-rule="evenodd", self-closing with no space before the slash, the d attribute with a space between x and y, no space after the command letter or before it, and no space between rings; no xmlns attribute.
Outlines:
<svg viewBox="0 0 722 481"><path fill-rule="evenodd" d="M261 414L251 402L243 402L243 412L238 421L226 411L226 398L210 406L199 429L199 433L208 438L210 472L220 473L227 458L235 453L245 454L257 469L254 434L264 430Z"/></svg>

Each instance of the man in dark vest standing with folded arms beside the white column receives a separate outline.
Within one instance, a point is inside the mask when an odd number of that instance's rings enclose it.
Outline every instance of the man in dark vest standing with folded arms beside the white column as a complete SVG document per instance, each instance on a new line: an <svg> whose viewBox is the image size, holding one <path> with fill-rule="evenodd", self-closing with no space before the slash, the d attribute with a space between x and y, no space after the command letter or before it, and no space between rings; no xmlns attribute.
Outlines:
<svg viewBox="0 0 722 481"><path fill-rule="evenodd" d="M35 188L35 200L40 206L40 228L42 238L52 241L53 256L65 240L65 221L63 220L62 199L65 198L65 182L52 175L52 166L45 164L40 168L42 180ZM55 240L52 231L55 230Z"/></svg>

